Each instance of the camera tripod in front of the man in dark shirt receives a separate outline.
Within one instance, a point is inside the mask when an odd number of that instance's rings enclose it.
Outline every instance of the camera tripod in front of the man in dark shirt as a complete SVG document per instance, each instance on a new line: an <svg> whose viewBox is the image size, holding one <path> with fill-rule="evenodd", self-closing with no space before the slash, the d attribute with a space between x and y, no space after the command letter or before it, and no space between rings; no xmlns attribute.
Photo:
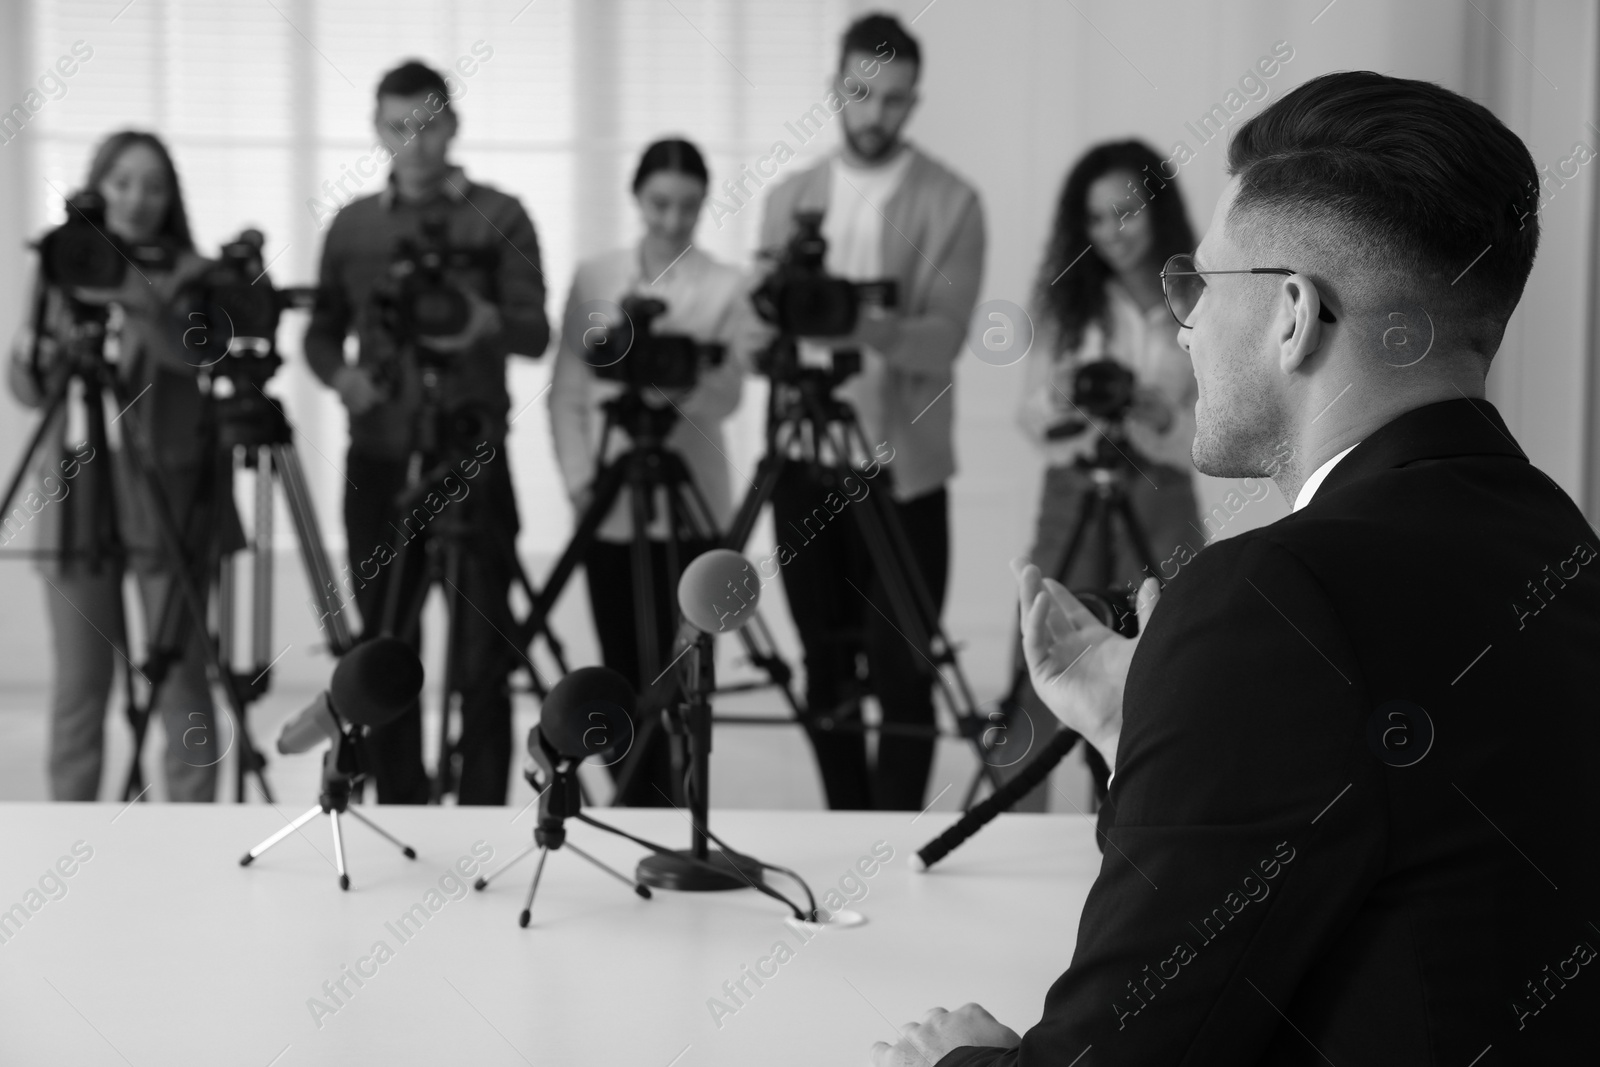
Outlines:
<svg viewBox="0 0 1600 1067"><path fill-rule="evenodd" d="M491 435L504 440L504 434L491 434L493 416L488 413L472 408L446 411L440 402L442 366L434 358L424 357L418 362L422 368L422 405L418 411L416 448L410 458L406 488L395 498L395 515L402 523L430 493L442 491L445 478L456 470L458 462L474 454L469 451L469 442L477 438L486 442ZM525 651L538 633L544 635L557 667L562 673L566 672L562 643L547 625L541 624L534 630L526 630L514 622L512 633L502 635L510 648L496 654L493 665L480 677L470 680L462 677L462 627L467 617L464 613L478 611L462 592L462 574L467 555L482 550L485 536L490 539L490 552L499 557L512 584L522 587L530 603L536 605L539 600L539 592L533 587L522 560L517 557L510 533L493 518L483 522L482 502L483 498L472 506L466 501L451 504L429 522L422 581L408 592L403 590L403 584L414 537L402 542L390 563L394 569L384 590L381 632L406 641L419 640L422 606L429 592L438 587L445 598L445 678L438 718L438 763L429 774L429 803L434 805L442 803L445 795L459 795L462 760L459 739L451 739L453 712L459 710L464 717L469 696L475 701L482 694L491 693L504 685L507 675L518 665L528 669L530 688L542 699L547 693L544 680ZM542 616L539 617L542 621ZM522 664L517 662L517 657L522 659ZM464 723L462 729L466 729Z"/></svg>

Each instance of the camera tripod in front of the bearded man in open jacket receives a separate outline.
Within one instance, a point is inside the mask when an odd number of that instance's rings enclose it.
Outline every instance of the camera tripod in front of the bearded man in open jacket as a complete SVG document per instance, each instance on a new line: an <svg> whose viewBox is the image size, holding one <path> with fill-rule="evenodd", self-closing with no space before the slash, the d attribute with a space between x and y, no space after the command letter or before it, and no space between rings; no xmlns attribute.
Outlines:
<svg viewBox="0 0 1600 1067"><path fill-rule="evenodd" d="M859 370L859 352L834 352L832 368L798 366L794 354L794 338L779 338L774 342L778 357L774 366L782 366L781 373L771 374L773 389L768 398L766 416L766 454L757 464L755 486L744 498L738 515L725 539L725 545L741 550L755 530L762 506L773 496L784 469L790 464L803 464L816 472L827 488L842 488L846 477L854 475L853 458L870 456L861 422L850 402L834 394L834 389L851 373ZM795 456L794 453L798 453ZM862 541L872 558L872 566L883 582L890 598L888 616L899 632L917 649L923 664L930 665L938 681L938 693L944 696L950 715L955 718L957 736L971 742L978 753L979 768L966 789L962 806L970 808L978 797L984 781L990 787L1000 785L1000 776L986 758L989 745L984 741L986 731L992 729L976 710L971 688L962 664L957 659L955 646L946 635L939 622L939 609L933 603L928 584L917 568L910 542L901 525L894 502L886 494L874 493L851 509ZM950 675L946 677L946 669ZM917 737L944 736L938 725L914 723L880 723L866 726L859 720L840 718L840 712L853 701L842 701L840 707L818 710L798 710L792 718L726 718L718 721L741 723L786 723L800 725L808 729L842 729L869 731L882 734L902 734Z"/></svg>

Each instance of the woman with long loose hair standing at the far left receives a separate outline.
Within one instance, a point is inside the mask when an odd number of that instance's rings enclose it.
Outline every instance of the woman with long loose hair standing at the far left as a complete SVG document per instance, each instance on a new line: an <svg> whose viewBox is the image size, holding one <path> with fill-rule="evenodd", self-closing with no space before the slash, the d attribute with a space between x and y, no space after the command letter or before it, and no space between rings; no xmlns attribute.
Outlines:
<svg viewBox="0 0 1600 1067"><path fill-rule="evenodd" d="M182 517L210 470L197 373L211 357L184 344L189 323L178 298L205 259L194 250L178 171L160 138L131 130L106 138L90 162L83 190L104 200L104 227L136 251L136 266L115 290L66 293L43 277L35 282L45 286L46 309L37 360L32 331L24 328L11 349L11 392L26 405L43 403L72 370L66 352L70 304L106 306L107 354L133 398L125 411L106 416L114 442L131 434L146 442L170 504ZM70 405L59 408L46 434L38 474L51 502L34 520L56 665L50 792L54 800L96 800L112 681L118 662L134 670L128 661L123 571L131 568L138 577L147 640L176 589L160 552L152 499L126 450L94 454L90 446L69 443L69 411ZM58 486L54 493L51 485ZM232 509L227 515L232 518ZM110 550L104 537L112 523L120 550ZM184 629L182 651L168 667L150 712L166 729L162 768L168 800L214 800L218 763L227 745L213 717L205 635L194 625Z"/></svg>

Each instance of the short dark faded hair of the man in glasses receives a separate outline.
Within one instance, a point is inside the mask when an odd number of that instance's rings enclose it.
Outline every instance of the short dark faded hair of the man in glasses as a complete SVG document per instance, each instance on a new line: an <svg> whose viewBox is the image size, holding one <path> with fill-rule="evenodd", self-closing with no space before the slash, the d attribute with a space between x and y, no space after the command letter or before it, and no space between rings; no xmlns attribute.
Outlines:
<svg viewBox="0 0 1600 1067"><path fill-rule="evenodd" d="M1245 122L1227 166L1230 229L1338 248L1352 277L1410 285L1494 354L1539 246L1539 173L1486 107L1432 82L1325 74Z"/></svg>

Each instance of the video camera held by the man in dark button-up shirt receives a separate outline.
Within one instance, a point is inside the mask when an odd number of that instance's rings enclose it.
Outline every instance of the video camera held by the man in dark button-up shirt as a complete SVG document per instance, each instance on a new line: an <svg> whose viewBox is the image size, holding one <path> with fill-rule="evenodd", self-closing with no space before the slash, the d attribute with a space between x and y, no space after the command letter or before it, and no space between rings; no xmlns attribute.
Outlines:
<svg viewBox="0 0 1600 1067"><path fill-rule="evenodd" d="M389 285L373 294L384 331L424 352L430 339L464 331L472 304L450 275L480 258L478 251L451 248L443 219L424 222L421 240L402 237L389 259Z"/></svg>

